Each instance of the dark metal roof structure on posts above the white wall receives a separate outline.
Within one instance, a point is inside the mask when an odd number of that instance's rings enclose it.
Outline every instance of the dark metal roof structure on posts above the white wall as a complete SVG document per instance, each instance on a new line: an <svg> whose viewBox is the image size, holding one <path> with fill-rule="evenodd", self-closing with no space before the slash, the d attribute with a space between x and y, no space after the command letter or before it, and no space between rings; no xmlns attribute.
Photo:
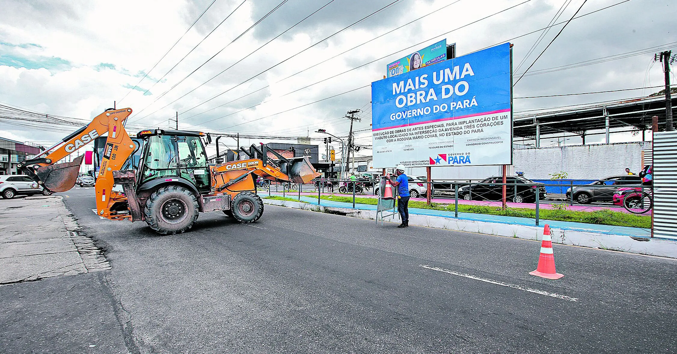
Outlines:
<svg viewBox="0 0 677 354"><path fill-rule="evenodd" d="M673 96L672 105L676 104L677 97ZM514 136L537 141L548 134L570 133L582 136L585 143L588 130L607 130L607 134L613 128L628 128L623 131L651 130L653 116L658 116L659 130L665 130L664 95L568 106L563 109L516 112L512 131Z"/></svg>

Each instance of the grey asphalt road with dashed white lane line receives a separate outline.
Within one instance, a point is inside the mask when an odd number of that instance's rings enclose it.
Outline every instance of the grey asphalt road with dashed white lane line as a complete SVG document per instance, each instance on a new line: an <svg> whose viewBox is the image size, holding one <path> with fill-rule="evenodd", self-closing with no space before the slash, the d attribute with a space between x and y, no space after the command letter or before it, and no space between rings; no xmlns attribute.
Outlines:
<svg viewBox="0 0 677 354"><path fill-rule="evenodd" d="M271 205L158 236L62 194L112 270L0 287L0 352L676 353L674 259L555 245L552 281L517 238Z"/></svg>

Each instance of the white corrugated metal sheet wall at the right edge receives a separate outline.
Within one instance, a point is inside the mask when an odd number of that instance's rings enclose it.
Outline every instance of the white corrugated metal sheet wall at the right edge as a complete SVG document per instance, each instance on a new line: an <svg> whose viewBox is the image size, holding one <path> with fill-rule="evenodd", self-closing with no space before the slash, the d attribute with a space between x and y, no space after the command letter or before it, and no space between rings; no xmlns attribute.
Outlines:
<svg viewBox="0 0 677 354"><path fill-rule="evenodd" d="M677 240L677 132L653 133L653 236Z"/></svg>

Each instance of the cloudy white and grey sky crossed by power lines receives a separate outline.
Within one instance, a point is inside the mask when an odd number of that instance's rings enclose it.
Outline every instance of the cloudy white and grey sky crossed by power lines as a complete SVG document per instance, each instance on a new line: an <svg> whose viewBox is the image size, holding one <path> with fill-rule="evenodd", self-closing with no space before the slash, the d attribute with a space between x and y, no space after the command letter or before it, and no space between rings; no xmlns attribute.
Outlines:
<svg viewBox="0 0 677 354"><path fill-rule="evenodd" d="M356 130L369 128L368 85L389 62L441 39L457 43L458 55L510 41L521 75L563 24L540 29L569 20L583 2L2 0L0 102L85 122L117 101L134 110L133 131L167 126L178 111L183 129L320 136L313 130L326 128L343 136L349 109L362 109ZM676 8L674 0L588 0L515 97L662 84L653 53L676 48ZM659 89L516 99L515 110ZM64 133L0 122L0 135L47 145ZM370 132L357 136L371 145Z"/></svg>

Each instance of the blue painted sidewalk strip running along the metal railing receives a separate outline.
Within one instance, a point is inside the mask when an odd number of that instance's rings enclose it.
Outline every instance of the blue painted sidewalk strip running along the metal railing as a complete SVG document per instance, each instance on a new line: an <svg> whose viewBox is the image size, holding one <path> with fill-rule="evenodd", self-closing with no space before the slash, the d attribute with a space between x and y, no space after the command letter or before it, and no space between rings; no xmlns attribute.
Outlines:
<svg viewBox="0 0 677 354"><path fill-rule="evenodd" d="M266 197L267 193L259 193L261 197ZM273 194L277 195L277 194ZM280 193L280 196L282 194ZM298 199L297 196L288 195L288 198ZM318 198L313 197L304 197L301 196L301 201L305 201L309 204L318 205ZM355 209L353 209L353 203L344 203L341 201L330 201L327 199L322 199L320 205L324 207L337 207L341 209L349 210L376 210L376 205L370 204L355 204ZM418 208L409 208L410 214L416 215L425 215L425 216L440 216L443 218L452 218L456 219L454 216L454 211L443 211L443 210L433 210L433 209L418 209ZM476 213L458 213L458 219L460 220L473 220L480 222L497 222L501 224L514 224L514 225L523 225L523 226L536 226L536 220L530 218L518 218L515 216L498 216L498 215L489 215L489 214L476 214ZM598 225L598 224L584 224L582 222L563 222L555 220L544 220L541 219L539 226L544 224L550 225L552 228L558 228L561 230L573 230L573 231L583 231L583 232L598 232L601 234L615 234L621 236L637 236L637 237L650 237L651 230L645 228L632 228L628 226L610 226L610 225Z"/></svg>

